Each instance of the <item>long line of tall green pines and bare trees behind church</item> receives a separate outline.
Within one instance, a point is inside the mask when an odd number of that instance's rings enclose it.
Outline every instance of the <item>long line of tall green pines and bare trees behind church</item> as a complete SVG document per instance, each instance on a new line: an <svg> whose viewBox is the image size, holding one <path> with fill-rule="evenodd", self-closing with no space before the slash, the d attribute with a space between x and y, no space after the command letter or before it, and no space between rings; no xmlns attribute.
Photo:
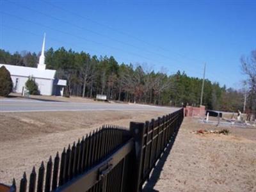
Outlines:
<svg viewBox="0 0 256 192"><path fill-rule="evenodd" d="M0 63L36 67L38 55L0 50ZM47 50L45 63L48 69L56 70L57 78L67 79L66 96L95 98L97 94L104 94L110 100L124 102L169 106L200 104L202 79L189 77L185 72L168 75L141 65L118 63L113 56L91 56L64 47ZM203 104L206 108L243 110L243 98L243 92L205 79Z"/></svg>

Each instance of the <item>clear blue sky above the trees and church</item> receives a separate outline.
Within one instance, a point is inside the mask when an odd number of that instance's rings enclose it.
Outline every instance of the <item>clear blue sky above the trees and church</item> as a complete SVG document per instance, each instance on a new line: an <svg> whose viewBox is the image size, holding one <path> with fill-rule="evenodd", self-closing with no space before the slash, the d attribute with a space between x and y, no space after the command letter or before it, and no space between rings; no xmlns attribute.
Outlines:
<svg viewBox="0 0 256 192"><path fill-rule="evenodd" d="M0 49L65 47L241 88L256 1L0 1Z"/></svg>

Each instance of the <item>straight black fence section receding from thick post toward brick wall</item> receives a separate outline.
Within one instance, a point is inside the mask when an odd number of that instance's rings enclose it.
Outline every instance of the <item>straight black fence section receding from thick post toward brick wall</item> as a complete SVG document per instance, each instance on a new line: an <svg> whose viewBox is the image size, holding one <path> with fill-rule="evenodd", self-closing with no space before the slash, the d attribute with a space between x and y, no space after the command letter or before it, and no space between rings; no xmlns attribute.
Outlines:
<svg viewBox="0 0 256 192"><path fill-rule="evenodd" d="M140 163L137 165L140 171L136 191L142 189L144 182L150 177L150 172L162 156L168 143L175 139L175 134L179 131L183 120L183 114L183 109L180 109L170 115L158 117L157 120L145 122L145 124L131 122L131 132L141 134L141 138L134 137L135 143L139 143L135 147L136 153L139 154L136 158L140 160L137 160Z"/></svg>

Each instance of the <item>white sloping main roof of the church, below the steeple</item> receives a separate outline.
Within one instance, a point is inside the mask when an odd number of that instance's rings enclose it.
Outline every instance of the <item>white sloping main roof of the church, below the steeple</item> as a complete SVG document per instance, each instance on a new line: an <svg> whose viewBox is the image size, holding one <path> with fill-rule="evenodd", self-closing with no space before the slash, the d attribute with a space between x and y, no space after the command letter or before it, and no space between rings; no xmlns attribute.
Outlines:
<svg viewBox="0 0 256 192"><path fill-rule="evenodd" d="M22 77L29 77L33 76L36 78L42 78L42 79L54 79L56 70L50 70L45 69L41 70L34 67L23 67L23 66L17 66L17 65L6 65L1 64L0 67L6 67L6 69L10 72L12 76L22 76Z"/></svg>

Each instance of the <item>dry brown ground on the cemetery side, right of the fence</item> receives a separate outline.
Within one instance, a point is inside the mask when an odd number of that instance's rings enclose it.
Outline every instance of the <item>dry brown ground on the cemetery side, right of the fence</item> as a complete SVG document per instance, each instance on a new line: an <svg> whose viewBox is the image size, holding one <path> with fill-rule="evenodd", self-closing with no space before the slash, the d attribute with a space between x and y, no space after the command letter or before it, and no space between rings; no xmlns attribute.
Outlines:
<svg viewBox="0 0 256 192"><path fill-rule="evenodd" d="M193 133L199 129L228 129L230 134ZM256 191L256 129L185 118L163 163L157 182L149 183L156 191Z"/></svg>

